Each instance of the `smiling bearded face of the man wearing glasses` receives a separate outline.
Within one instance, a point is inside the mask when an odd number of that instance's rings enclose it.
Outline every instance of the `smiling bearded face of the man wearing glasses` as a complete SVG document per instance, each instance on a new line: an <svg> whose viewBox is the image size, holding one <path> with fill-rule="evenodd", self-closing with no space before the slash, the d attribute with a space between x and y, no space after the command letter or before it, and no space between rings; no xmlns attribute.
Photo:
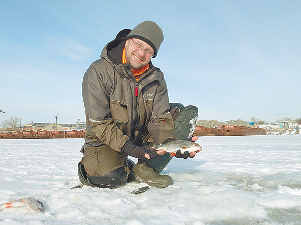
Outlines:
<svg viewBox="0 0 301 225"><path fill-rule="evenodd" d="M139 45L142 48L139 48ZM132 69L140 69L147 65L152 55L145 53L145 50L154 53L154 50L146 42L139 39L127 39L125 42L125 59Z"/></svg>

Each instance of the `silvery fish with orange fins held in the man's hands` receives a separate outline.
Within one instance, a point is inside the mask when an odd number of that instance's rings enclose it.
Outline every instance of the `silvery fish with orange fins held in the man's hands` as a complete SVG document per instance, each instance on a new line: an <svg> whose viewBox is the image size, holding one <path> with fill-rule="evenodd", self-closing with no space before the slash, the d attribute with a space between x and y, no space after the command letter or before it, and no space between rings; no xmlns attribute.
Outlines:
<svg viewBox="0 0 301 225"><path fill-rule="evenodd" d="M193 141L188 140L174 140L170 141L166 144L160 144L160 145L153 145L148 148L148 150L164 150L162 154L170 153L171 157L175 156L178 150L181 150L181 153L183 154L185 151L193 152L202 150L202 146L198 143L195 143Z"/></svg>

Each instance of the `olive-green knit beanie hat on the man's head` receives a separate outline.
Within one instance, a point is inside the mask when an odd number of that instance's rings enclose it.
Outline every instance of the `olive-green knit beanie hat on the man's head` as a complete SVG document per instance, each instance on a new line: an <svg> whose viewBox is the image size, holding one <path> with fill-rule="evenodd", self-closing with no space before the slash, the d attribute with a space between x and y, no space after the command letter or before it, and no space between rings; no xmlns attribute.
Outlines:
<svg viewBox="0 0 301 225"><path fill-rule="evenodd" d="M126 39L137 38L146 42L154 49L154 58L157 56L160 45L163 42L164 36L162 29L153 21L144 21L138 24L127 35Z"/></svg>

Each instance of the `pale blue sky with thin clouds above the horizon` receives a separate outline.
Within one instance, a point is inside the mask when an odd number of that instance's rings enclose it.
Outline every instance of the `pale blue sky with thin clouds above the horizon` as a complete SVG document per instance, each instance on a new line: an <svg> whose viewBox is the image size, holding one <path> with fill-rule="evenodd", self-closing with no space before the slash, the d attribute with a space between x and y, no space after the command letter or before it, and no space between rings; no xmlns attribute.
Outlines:
<svg viewBox="0 0 301 225"><path fill-rule="evenodd" d="M300 1L1 1L0 122L85 120L83 74L122 29L164 32L170 102L199 120L301 117Z"/></svg>

